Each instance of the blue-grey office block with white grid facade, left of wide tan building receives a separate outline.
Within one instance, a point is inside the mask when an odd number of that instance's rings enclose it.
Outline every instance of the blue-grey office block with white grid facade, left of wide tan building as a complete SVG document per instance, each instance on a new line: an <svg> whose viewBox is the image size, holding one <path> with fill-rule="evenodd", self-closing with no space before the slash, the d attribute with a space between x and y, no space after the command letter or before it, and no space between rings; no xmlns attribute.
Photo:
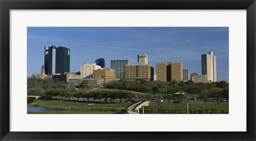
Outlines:
<svg viewBox="0 0 256 141"><path fill-rule="evenodd" d="M130 60L110 60L110 68L115 69L115 80L125 79L125 65L129 64Z"/></svg>

